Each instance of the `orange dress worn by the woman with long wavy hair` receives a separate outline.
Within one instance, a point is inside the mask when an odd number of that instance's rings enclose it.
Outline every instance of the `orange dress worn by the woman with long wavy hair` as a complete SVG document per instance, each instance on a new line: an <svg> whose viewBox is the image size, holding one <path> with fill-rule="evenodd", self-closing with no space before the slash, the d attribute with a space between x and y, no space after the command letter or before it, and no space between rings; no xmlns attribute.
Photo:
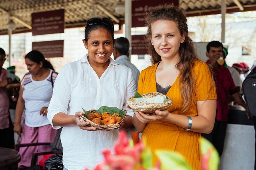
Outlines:
<svg viewBox="0 0 256 170"><path fill-rule="evenodd" d="M140 94L157 91L155 79L157 64L147 67L140 73L138 83L138 92ZM192 69L196 88L196 92L193 95L193 104L188 112L183 114L179 112L183 101L179 90L180 75L178 75L176 81L166 94L173 101L173 106L167 109L172 114L196 116L196 101L217 99L215 83L212 82L207 64L196 60ZM213 87L211 88L212 83ZM193 170L201 169L201 152L199 147L201 133L186 131L182 127L167 121L155 121L147 123L147 126L143 130L142 138L147 142L146 145L153 152L159 149L178 152L184 156ZM153 163L155 164L156 157L154 156L153 159Z"/></svg>

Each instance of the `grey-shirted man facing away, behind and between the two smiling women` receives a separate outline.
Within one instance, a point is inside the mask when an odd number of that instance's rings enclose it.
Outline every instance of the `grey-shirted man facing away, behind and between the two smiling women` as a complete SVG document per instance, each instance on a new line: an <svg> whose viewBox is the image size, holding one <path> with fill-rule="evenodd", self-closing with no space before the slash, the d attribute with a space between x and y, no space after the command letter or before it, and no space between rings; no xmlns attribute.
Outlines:
<svg viewBox="0 0 256 170"><path fill-rule="evenodd" d="M127 55L129 52L129 47L130 47L130 44L127 38L125 37L116 38L116 43L113 50L113 56L116 63L122 64L131 69L136 85L138 86L140 71L137 69L137 67L134 66L134 64L130 63L128 59Z"/></svg>

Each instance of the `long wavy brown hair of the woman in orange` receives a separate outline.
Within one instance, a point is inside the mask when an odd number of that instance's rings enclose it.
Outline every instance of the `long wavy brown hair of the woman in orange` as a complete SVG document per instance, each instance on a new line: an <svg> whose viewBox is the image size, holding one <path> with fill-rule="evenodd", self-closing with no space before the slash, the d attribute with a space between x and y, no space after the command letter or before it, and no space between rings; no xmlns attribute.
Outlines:
<svg viewBox="0 0 256 170"><path fill-rule="evenodd" d="M179 47L179 61L176 64L176 68L180 71L179 86L181 91L181 96L183 98L183 107L181 112L186 112L192 104L192 96L195 92L194 87L194 73L192 72L192 67L194 61L197 58L196 51L194 49L194 44L191 38L188 37L188 25L187 18L178 7L173 4L165 4L160 6L155 11L151 11L146 16L147 34L146 38L148 40L148 53L151 56L151 63L156 64L161 61L161 56L155 51L154 46L151 44L150 38L152 37L152 24L158 20L168 20L176 23L181 35L185 34L185 40L180 44Z"/></svg>

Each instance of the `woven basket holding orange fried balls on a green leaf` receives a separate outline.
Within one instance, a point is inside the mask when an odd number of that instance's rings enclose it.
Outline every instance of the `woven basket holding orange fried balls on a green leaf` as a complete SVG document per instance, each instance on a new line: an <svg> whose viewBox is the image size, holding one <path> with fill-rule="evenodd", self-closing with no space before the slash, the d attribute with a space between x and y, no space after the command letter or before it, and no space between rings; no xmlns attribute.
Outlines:
<svg viewBox="0 0 256 170"><path fill-rule="evenodd" d="M91 113L95 112L95 109L90 110ZM80 116L80 121L81 122L90 122L91 127L95 127L96 129L99 130L114 130L114 129L119 129L122 126L122 122L124 122L124 119L126 118L126 110L124 111L124 117L120 122L111 124L111 125L98 125L96 123L93 123L91 120L87 119L86 117L84 117L83 115ZM102 114L102 113L100 113Z"/></svg>

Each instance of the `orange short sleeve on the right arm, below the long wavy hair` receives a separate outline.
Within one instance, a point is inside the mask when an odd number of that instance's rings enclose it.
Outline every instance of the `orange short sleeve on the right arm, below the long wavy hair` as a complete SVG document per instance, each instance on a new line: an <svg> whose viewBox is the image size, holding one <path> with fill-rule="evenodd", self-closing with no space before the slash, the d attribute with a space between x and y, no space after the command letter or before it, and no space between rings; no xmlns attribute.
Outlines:
<svg viewBox="0 0 256 170"><path fill-rule="evenodd" d="M196 62L196 64L198 65L194 66L196 100L217 99L216 85L212 78L212 71L202 61L200 63Z"/></svg>

